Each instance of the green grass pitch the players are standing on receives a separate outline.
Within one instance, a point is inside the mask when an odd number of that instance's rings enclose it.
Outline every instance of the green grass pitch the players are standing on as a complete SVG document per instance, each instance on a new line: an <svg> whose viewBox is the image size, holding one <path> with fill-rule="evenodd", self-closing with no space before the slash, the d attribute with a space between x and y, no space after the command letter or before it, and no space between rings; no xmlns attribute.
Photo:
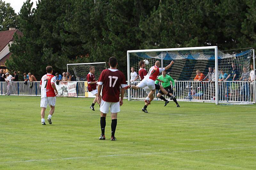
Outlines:
<svg viewBox="0 0 256 170"><path fill-rule="evenodd" d="M40 97L0 96L2 169L255 169L256 105L124 101L116 141L99 140L92 99L57 98L41 125ZM49 111L49 108L46 110ZM47 118L47 113L45 118Z"/></svg>

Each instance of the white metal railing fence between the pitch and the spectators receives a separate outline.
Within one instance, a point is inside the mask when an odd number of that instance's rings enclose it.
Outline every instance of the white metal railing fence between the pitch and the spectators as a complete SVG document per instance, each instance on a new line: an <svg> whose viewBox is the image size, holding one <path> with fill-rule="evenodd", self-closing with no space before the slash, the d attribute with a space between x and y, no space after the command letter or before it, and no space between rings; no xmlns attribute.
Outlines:
<svg viewBox="0 0 256 170"><path fill-rule="evenodd" d="M136 85L140 81L132 82ZM20 96L40 96L40 82L0 82L0 95L20 95ZM84 81L76 83L76 97L85 97L87 88ZM255 103L254 85L245 81L225 81L219 84L220 102L230 103ZM180 101L206 101L215 102L215 83L197 81L176 81L176 91L174 95ZM156 91L157 94L157 91ZM156 97L155 94L155 97ZM137 91L131 89L131 99L145 99L147 96L143 89ZM125 98L128 98L128 90L125 91ZM167 96L165 96L168 98ZM155 98L156 99L156 98Z"/></svg>

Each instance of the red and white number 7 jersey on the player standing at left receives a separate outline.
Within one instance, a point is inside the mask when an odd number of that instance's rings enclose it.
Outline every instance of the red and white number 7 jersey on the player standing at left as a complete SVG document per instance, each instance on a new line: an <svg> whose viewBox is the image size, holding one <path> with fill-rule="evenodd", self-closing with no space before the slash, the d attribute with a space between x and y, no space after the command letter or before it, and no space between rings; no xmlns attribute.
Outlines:
<svg viewBox="0 0 256 170"><path fill-rule="evenodd" d="M41 98L56 96L52 87L52 83L55 83L55 76L53 76L52 74L47 73L41 78Z"/></svg>

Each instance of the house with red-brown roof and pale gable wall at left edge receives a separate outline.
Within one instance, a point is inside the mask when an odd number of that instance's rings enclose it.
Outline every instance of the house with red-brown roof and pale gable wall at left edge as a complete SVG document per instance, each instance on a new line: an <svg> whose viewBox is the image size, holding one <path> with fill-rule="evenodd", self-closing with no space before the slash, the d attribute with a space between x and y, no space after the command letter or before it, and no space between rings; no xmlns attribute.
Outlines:
<svg viewBox="0 0 256 170"><path fill-rule="evenodd" d="M0 31L0 65L4 65L6 59L9 59L11 55L8 44L12 45L14 33L20 36L22 35L22 33L15 28L10 28L9 31Z"/></svg>

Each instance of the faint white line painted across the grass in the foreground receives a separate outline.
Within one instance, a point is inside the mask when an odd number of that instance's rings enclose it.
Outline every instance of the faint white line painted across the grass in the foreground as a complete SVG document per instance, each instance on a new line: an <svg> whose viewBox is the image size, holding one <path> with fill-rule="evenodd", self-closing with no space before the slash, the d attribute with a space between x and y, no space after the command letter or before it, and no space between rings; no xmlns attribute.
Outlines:
<svg viewBox="0 0 256 170"><path fill-rule="evenodd" d="M26 162L43 162L43 161L55 161L55 160L69 160L69 159L89 159L89 158L118 157L118 156L140 156L140 155L161 155L161 154L172 154L172 153L193 153L193 152L235 150L235 149L247 149L247 148L256 148L256 146L234 147L234 148L219 148L219 149L200 149L200 150L190 150L190 151L184 150L184 151L170 151L170 152L149 152L149 153L132 153L132 154L114 154L114 155L86 156L86 157L70 157L70 158L56 158L56 159L31 159L31 160L20 160L20 161L0 162L0 164L26 163Z"/></svg>

